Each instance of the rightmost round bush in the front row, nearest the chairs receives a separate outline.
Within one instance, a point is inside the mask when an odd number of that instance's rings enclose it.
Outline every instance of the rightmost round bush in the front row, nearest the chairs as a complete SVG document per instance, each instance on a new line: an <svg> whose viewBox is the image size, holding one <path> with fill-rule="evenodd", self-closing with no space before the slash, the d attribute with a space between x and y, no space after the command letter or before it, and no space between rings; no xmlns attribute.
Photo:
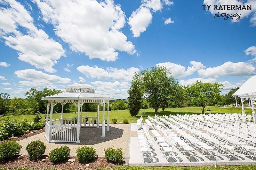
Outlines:
<svg viewBox="0 0 256 170"><path fill-rule="evenodd" d="M117 150L114 148L114 145L112 148L104 149L105 151L105 158L109 162L121 162L124 153L122 152L122 148L117 148Z"/></svg>

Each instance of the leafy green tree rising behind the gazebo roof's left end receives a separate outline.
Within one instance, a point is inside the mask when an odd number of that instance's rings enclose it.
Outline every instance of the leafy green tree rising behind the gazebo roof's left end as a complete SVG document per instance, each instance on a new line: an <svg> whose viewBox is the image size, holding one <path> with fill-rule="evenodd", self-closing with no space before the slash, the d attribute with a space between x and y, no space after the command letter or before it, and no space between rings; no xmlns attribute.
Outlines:
<svg viewBox="0 0 256 170"><path fill-rule="evenodd" d="M27 96L28 100L34 100L38 104L38 111L40 111L41 113L45 113L46 101L41 100L41 98L45 96L50 96L53 94L58 94L58 93L61 93L61 90L49 89L48 87L45 87L43 91L39 91L35 87L35 88L31 88L28 92L25 93L25 95ZM58 109L58 108L55 108L55 109Z"/></svg>

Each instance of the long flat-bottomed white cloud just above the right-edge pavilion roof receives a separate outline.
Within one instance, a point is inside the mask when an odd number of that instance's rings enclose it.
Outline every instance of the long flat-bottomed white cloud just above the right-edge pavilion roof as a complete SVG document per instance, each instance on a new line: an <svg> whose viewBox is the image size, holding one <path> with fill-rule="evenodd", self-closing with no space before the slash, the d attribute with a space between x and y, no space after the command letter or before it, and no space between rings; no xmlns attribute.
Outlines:
<svg viewBox="0 0 256 170"><path fill-rule="evenodd" d="M217 67L208 67L198 70L199 76L204 78L218 78L220 76L252 76L255 67L246 62L233 63L231 61L221 64Z"/></svg>

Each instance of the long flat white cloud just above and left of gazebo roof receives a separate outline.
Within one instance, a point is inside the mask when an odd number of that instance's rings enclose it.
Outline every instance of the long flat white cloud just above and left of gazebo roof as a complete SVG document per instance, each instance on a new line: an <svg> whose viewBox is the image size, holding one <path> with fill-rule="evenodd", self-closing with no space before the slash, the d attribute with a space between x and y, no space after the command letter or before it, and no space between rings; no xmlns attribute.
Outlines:
<svg viewBox="0 0 256 170"><path fill-rule="evenodd" d="M22 86L54 86L53 83L70 83L70 78L61 78L56 75L46 74L35 69L17 70L14 74L18 78L28 81L19 81Z"/></svg>

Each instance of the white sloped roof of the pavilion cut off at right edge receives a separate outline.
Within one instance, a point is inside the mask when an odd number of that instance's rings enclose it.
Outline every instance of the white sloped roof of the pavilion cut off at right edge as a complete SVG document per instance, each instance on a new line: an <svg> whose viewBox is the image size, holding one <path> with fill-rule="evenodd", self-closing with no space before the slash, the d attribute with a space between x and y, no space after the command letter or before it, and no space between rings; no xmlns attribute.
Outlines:
<svg viewBox="0 0 256 170"><path fill-rule="evenodd" d="M256 76L249 78L232 96L246 96L256 93Z"/></svg>

